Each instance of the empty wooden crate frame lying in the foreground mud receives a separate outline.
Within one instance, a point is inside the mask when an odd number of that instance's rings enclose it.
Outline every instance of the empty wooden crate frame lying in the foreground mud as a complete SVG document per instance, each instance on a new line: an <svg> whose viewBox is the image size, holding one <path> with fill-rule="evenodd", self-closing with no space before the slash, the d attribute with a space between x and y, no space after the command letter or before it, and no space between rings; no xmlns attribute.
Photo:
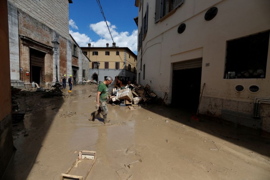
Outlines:
<svg viewBox="0 0 270 180"><path fill-rule="evenodd" d="M68 171L65 174L61 174L60 180L85 180L95 162L96 151L80 151L78 158L73 162Z"/></svg>

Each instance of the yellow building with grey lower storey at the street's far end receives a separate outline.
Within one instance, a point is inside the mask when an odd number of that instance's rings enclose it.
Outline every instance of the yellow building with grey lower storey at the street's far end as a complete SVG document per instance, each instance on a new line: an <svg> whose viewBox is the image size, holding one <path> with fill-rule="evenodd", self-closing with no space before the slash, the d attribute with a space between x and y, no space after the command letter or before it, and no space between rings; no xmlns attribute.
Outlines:
<svg viewBox="0 0 270 180"><path fill-rule="evenodd" d="M137 71L137 56L128 47L117 47L116 43L109 47L81 47L91 60L89 64L89 79L104 81L107 76L125 77L125 80L135 82ZM112 84L115 82L113 81Z"/></svg>

